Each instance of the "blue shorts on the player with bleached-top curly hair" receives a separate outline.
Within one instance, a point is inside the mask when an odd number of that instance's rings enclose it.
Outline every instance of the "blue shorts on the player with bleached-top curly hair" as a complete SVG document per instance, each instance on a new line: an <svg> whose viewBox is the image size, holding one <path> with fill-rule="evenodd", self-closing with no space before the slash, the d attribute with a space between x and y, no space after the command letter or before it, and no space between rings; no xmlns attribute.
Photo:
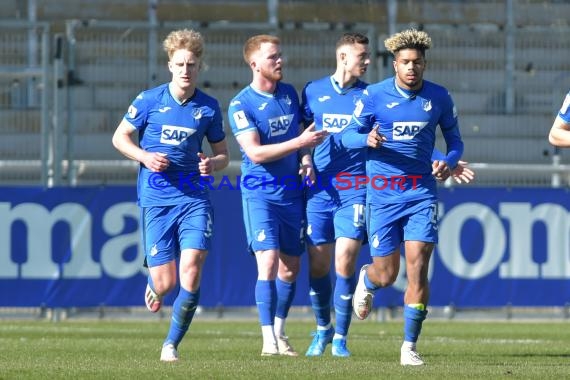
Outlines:
<svg viewBox="0 0 570 380"><path fill-rule="evenodd" d="M369 204L366 212L371 256L388 256L404 241L437 244L436 200Z"/></svg>

